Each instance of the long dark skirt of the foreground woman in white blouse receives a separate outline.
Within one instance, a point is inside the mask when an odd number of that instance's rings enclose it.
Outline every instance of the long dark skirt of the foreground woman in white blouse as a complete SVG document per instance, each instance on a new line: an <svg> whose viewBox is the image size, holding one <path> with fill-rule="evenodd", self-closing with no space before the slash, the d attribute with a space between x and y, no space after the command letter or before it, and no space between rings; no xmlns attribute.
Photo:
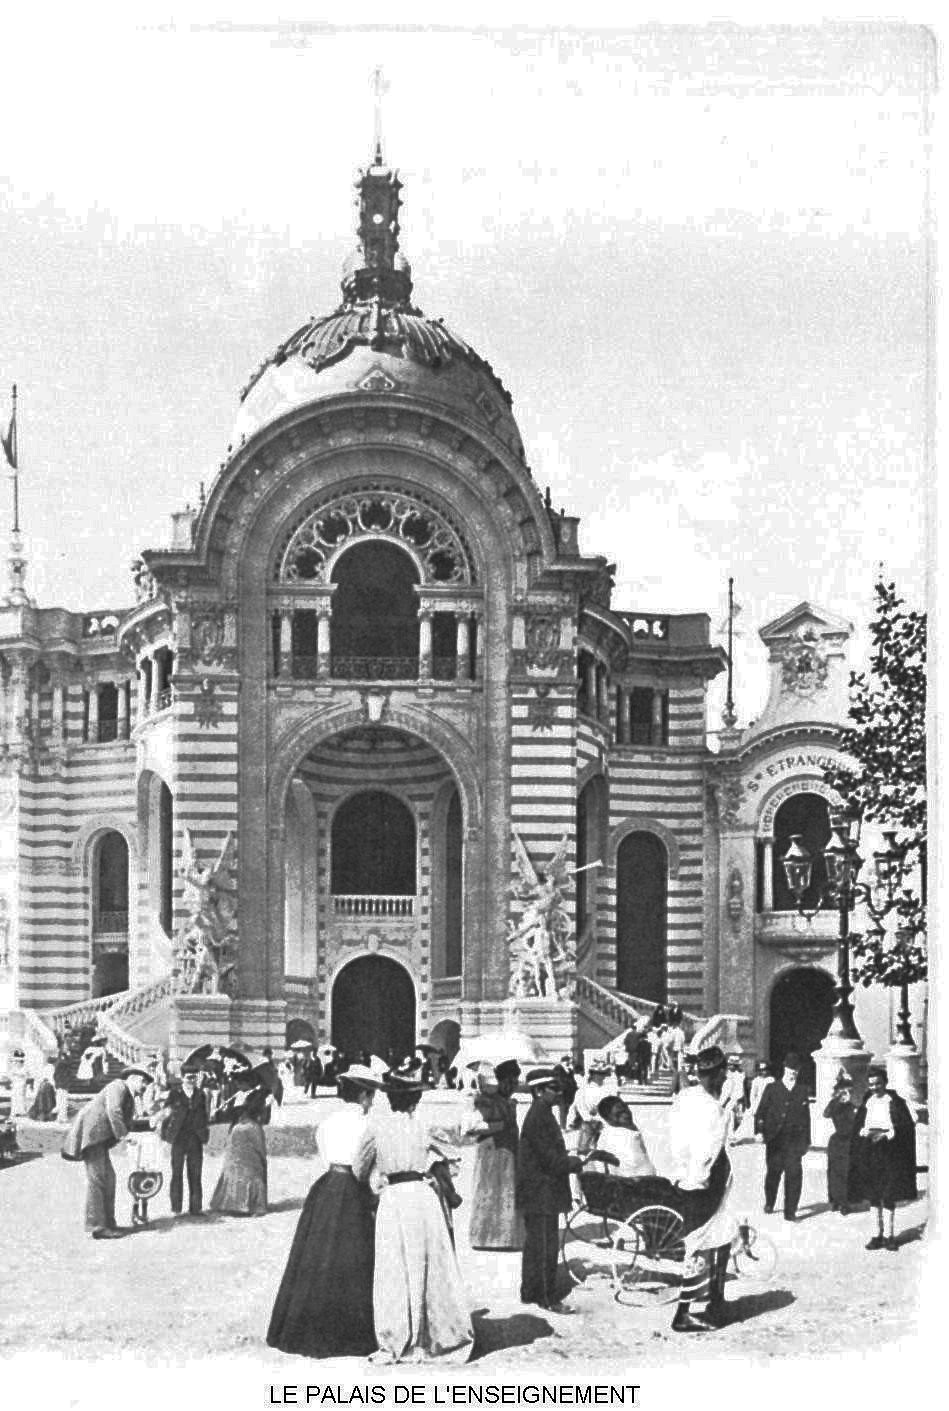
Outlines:
<svg viewBox="0 0 949 1411"><path fill-rule="evenodd" d="M375 1350L369 1192L351 1171L330 1170L300 1211L267 1342L306 1357Z"/></svg>

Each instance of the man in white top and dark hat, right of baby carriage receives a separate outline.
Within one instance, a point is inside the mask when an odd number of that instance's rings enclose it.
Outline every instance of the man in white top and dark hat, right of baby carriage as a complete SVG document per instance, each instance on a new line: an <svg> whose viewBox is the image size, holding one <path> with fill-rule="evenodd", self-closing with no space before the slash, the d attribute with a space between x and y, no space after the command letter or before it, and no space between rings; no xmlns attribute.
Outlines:
<svg viewBox="0 0 949 1411"><path fill-rule="evenodd" d="M685 1221L685 1253L674 1332L708 1332L726 1322L725 1273L737 1226L729 1212L732 1165L728 1158L728 1113L721 1095L725 1054L716 1046L695 1057L698 1082L673 1103L671 1147L678 1208ZM692 1302L706 1302L704 1315Z"/></svg>

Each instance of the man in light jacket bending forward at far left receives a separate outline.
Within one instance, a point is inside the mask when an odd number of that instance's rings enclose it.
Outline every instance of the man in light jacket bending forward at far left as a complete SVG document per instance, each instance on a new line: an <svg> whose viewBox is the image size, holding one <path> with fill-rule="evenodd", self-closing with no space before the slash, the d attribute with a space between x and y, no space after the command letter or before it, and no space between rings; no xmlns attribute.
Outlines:
<svg viewBox="0 0 949 1411"><path fill-rule="evenodd" d="M144 1068L123 1068L78 1113L62 1143L68 1161L82 1161L86 1167L86 1229L93 1239L118 1239L116 1228L116 1170L109 1153L147 1122L135 1119L135 1098L144 1091L148 1074Z"/></svg>

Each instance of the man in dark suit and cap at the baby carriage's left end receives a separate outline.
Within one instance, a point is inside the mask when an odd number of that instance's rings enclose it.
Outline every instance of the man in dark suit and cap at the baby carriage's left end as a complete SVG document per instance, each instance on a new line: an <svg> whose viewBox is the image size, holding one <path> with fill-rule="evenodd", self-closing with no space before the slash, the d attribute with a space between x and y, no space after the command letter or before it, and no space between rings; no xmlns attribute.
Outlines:
<svg viewBox="0 0 949 1411"><path fill-rule="evenodd" d="M525 1218L520 1301L540 1304L550 1312L573 1312L557 1301L558 1225L561 1211L568 1211L573 1204L568 1177L582 1170L582 1161L567 1154L564 1134L553 1113L561 1096L554 1068L533 1068L526 1085L533 1101L520 1132L515 1191Z"/></svg>

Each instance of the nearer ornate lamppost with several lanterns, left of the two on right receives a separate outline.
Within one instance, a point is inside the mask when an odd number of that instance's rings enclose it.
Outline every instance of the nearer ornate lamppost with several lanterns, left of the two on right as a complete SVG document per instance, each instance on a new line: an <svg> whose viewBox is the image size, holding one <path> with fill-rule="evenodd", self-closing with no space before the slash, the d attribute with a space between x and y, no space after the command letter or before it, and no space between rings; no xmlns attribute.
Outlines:
<svg viewBox="0 0 949 1411"><path fill-rule="evenodd" d="M893 910L897 890L902 879L902 855L895 845L895 834L884 832L884 847L874 852L874 882L860 882L860 868L863 858L857 851L859 821L849 818L843 813L831 816L831 840L824 849L824 864L826 868L826 882L818 889L816 900L812 906L805 906L804 897L811 889L814 875L814 858L804 845L800 832L791 835L791 842L784 854L783 865L788 888L794 897L795 907L808 921L814 920L818 912L831 904L838 912L838 983L833 1003L833 1017L831 1027L815 1054L818 1062L818 1106L822 1089L829 1098L833 1084L833 1074L846 1061L846 1067L853 1070L850 1077L863 1086L867 1054L860 1033L853 1020L853 985L850 983L850 913L860 902L874 926L883 931L883 921ZM824 1072L822 1072L824 1067Z"/></svg>

